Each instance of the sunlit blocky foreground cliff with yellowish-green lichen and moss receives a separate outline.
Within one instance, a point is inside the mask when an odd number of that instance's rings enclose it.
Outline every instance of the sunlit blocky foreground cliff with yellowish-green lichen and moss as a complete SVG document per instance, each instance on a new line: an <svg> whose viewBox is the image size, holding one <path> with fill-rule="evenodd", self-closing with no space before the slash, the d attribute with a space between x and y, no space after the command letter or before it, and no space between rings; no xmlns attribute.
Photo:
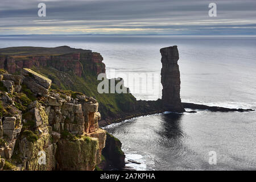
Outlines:
<svg viewBox="0 0 256 182"><path fill-rule="evenodd" d="M30 69L0 75L0 169L93 170L106 131L98 102L82 93L49 90Z"/></svg>

